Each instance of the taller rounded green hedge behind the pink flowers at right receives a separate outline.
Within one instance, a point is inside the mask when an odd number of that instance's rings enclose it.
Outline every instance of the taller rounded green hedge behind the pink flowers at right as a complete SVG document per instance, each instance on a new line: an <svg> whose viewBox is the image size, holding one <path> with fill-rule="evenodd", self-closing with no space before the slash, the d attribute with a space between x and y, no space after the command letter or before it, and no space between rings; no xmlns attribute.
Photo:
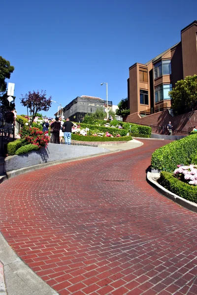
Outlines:
<svg viewBox="0 0 197 295"><path fill-rule="evenodd" d="M152 154L151 166L172 173L178 164L189 164L189 158L196 152L197 134L192 134L156 149Z"/></svg>

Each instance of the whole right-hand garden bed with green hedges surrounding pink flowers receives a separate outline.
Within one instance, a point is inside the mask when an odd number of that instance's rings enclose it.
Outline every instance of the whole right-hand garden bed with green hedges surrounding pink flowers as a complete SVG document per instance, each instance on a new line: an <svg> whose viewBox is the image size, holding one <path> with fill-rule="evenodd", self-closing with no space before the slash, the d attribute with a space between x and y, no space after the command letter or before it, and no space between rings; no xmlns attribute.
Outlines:
<svg viewBox="0 0 197 295"><path fill-rule="evenodd" d="M161 172L164 188L197 203L197 133L156 149L151 167Z"/></svg>

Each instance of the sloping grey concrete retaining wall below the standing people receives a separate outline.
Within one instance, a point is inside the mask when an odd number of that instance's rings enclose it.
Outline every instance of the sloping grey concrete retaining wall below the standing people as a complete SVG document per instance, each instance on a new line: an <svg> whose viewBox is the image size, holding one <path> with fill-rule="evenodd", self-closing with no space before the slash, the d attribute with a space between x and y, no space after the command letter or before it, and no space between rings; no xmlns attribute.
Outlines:
<svg viewBox="0 0 197 295"><path fill-rule="evenodd" d="M48 144L47 148L31 151L26 154L8 156L5 158L5 172L30 167L37 164L83 157L109 151L106 148L67 146Z"/></svg>

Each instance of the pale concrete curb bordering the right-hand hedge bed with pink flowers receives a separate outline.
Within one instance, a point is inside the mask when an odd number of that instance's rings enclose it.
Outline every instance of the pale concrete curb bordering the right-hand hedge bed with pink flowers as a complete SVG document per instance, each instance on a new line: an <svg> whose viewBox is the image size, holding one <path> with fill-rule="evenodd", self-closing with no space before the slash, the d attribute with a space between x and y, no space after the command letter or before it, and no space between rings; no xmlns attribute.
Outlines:
<svg viewBox="0 0 197 295"><path fill-rule="evenodd" d="M154 186L156 188L157 191L159 191L160 194L162 194L164 197L172 200L174 203L185 207L193 212L197 213L197 204L190 202L186 199L183 199L182 197L177 196L174 193L171 193L170 191L168 191L167 189L165 189L162 185L160 185L157 182L157 179L160 177L160 173L151 173L148 172L147 173L147 181L149 184L151 184L152 186Z"/></svg>

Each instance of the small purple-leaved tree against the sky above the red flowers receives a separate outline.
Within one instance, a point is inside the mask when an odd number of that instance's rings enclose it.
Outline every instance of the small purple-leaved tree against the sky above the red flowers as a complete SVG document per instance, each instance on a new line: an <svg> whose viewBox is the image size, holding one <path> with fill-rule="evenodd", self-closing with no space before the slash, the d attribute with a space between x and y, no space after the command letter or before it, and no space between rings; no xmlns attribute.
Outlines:
<svg viewBox="0 0 197 295"><path fill-rule="evenodd" d="M33 90L33 92L29 91L25 95L21 94L21 96L21 104L27 107L29 126L32 125L36 113L40 111L46 112L51 107L52 97L46 98L46 90L41 90L41 92L39 90L37 92Z"/></svg>

